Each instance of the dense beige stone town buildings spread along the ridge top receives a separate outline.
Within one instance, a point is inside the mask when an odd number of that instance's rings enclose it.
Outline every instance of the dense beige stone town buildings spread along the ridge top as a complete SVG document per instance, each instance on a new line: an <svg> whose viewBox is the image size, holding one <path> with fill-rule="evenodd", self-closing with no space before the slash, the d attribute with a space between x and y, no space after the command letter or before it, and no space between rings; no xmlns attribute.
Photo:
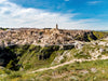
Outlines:
<svg viewBox="0 0 108 81"><path fill-rule="evenodd" d="M14 44L59 45L72 44L75 40L87 41L90 30L62 30L62 29L14 29L0 31L0 45Z"/></svg>

